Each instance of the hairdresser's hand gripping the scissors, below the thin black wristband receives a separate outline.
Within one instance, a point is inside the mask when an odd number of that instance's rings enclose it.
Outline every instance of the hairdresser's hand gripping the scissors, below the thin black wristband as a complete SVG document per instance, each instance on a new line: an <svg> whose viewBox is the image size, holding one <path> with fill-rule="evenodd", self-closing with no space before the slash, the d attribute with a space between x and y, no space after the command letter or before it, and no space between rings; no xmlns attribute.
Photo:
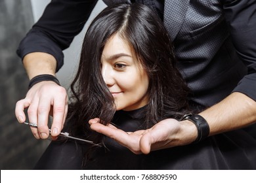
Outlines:
<svg viewBox="0 0 256 183"><path fill-rule="evenodd" d="M49 136L47 126L49 114L53 116L51 135L53 139L63 128L68 112L68 97L65 88L51 81L35 84L27 93L26 98L16 103L15 115L18 122L26 120L24 109L28 108L28 120L37 124L31 127L36 139L46 139Z"/></svg>

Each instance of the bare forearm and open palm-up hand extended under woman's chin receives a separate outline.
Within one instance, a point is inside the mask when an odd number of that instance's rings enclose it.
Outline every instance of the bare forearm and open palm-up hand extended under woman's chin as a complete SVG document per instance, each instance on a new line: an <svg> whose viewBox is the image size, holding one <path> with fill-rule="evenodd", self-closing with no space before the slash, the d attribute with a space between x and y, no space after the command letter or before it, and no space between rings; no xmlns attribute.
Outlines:
<svg viewBox="0 0 256 183"><path fill-rule="evenodd" d="M239 129L256 122L256 102L246 95L234 92L226 99L200 113L207 120L210 133ZM188 120L178 122L167 119L150 129L125 132L113 125L104 126L98 120L90 120L91 129L116 140L135 154L148 154L152 150L183 146L196 140L196 125Z"/></svg>

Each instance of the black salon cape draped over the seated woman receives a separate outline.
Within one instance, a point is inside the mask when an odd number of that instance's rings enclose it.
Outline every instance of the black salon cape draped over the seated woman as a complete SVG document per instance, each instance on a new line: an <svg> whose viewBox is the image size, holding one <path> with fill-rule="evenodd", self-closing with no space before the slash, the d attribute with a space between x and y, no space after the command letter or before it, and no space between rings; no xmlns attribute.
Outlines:
<svg viewBox="0 0 256 183"><path fill-rule="evenodd" d="M117 111L113 122L120 129L135 131L143 121L141 112L141 108ZM98 148L84 159L86 145L53 141L35 169L256 169L256 141L243 129L148 155L133 154L109 138L106 147Z"/></svg>

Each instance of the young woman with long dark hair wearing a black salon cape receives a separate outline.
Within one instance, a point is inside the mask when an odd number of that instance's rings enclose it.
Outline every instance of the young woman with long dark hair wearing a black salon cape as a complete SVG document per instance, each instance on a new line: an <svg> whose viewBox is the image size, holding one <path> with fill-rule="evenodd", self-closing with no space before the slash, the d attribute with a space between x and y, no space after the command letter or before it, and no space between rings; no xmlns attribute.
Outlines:
<svg viewBox="0 0 256 183"><path fill-rule="evenodd" d="M255 160L252 150L242 141L230 140L233 134L146 155L131 152L96 132L100 129L93 125L99 123L131 134L167 118L178 122L189 112L188 88L176 67L167 31L160 18L144 5L115 5L96 16L85 35L71 88L74 97L64 131L100 143L101 147L53 141L35 169L251 169L255 166L251 163ZM253 143L249 140L248 143ZM236 156L242 164L234 163Z"/></svg>

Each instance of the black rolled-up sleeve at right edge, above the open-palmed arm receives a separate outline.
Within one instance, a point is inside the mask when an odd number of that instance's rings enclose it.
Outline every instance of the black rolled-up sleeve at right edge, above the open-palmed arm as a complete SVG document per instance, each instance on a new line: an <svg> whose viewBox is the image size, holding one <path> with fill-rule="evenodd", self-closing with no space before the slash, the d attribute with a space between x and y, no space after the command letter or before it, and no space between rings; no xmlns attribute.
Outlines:
<svg viewBox="0 0 256 183"><path fill-rule="evenodd" d="M244 93L256 101L256 1L224 1L224 16L236 52L248 69L233 92Z"/></svg>

